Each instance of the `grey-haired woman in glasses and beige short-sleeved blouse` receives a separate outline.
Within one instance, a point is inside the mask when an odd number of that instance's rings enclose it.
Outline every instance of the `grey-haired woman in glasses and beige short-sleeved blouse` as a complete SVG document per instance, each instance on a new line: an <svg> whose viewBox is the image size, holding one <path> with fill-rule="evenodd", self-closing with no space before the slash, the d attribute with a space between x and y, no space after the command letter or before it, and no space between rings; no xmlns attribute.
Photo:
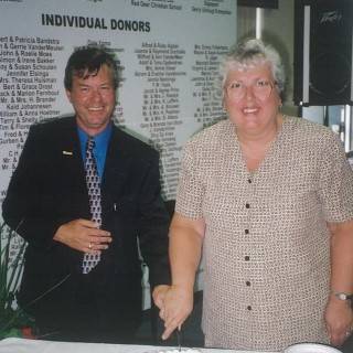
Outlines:
<svg viewBox="0 0 353 353"><path fill-rule="evenodd" d="M170 228L167 339L192 310L203 249L206 346L340 345L351 332L353 176L330 129L280 113L285 75L261 41L222 69L229 119L185 147Z"/></svg>

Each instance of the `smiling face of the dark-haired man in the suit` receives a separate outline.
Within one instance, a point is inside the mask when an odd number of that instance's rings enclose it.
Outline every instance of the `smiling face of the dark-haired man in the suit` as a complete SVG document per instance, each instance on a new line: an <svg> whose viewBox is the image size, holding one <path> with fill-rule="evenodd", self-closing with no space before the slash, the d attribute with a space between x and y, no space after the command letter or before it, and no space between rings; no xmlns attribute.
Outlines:
<svg viewBox="0 0 353 353"><path fill-rule="evenodd" d="M113 73L103 65L97 75L86 78L74 75L66 95L76 113L76 121L87 135L101 132L109 124L116 103Z"/></svg>

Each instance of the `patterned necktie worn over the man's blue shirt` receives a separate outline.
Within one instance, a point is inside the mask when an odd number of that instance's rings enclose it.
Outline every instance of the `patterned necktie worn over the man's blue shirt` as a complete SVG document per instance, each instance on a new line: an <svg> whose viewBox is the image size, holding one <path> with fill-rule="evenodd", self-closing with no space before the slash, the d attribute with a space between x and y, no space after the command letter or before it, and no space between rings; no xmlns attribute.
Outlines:
<svg viewBox="0 0 353 353"><path fill-rule="evenodd" d="M100 178L98 175L97 164L93 154L95 140L88 137L86 146L86 183L88 190L89 207L92 221L96 222L98 226L101 225L101 204L100 204ZM99 255L85 254L83 259L83 274L88 274L100 260Z"/></svg>

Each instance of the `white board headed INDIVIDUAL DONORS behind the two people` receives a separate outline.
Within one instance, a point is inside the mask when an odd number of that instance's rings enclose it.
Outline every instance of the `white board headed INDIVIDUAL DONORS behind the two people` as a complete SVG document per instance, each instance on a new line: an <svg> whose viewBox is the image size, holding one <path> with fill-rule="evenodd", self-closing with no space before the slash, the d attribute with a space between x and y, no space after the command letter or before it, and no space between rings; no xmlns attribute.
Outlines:
<svg viewBox="0 0 353 353"><path fill-rule="evenodd" d="M72 114L64 67L89 44L116 54L115 122L160 151L163 196L174 199L184 142L223 114L214 82L236 40L236 1L8 0L0 13L0 204L29 127Z"/></svg>

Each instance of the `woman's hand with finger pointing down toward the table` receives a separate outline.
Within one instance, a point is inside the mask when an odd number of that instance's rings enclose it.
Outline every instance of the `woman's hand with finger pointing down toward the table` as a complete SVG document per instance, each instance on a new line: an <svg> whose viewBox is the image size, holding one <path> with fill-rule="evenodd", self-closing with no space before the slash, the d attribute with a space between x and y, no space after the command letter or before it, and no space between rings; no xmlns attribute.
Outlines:
<svg viewBox="0 0 353 353"><path fill-rule="evenodd" d="M153 300L160 309L160 318L164 321L162 340L167 340L190 315L193 308L193 290L179 286L159 287L153 291Z"/></svg>

